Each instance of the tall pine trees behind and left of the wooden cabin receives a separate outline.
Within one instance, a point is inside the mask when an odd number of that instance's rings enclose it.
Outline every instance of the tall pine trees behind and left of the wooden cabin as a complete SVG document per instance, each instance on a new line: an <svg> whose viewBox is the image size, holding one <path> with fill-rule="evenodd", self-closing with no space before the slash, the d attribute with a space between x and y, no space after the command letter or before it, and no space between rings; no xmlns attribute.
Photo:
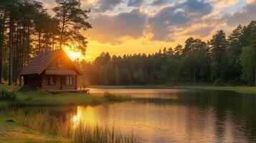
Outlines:
<svg viewBox="0 0 256 143"><path fill-rule="evenodd" d="M81 9L78 0L55 2L51 16L39 1L0 1L0 83L21 85L19 72L47 47L85 54L87 40L80 30L92 28L86 21L90 9Z"/></svg>

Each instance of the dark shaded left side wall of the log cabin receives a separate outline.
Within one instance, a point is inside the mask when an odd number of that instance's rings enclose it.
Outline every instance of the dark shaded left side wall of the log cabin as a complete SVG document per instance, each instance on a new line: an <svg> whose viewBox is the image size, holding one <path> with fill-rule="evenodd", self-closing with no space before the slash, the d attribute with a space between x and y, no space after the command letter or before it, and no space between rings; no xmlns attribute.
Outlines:
<svg viewBox="0 0 256 143"><path fill-rule="evenodd" d="M39 75L28 75L24 77L24 85L31 89L39 89L42 87L41 77Z"/></svg>

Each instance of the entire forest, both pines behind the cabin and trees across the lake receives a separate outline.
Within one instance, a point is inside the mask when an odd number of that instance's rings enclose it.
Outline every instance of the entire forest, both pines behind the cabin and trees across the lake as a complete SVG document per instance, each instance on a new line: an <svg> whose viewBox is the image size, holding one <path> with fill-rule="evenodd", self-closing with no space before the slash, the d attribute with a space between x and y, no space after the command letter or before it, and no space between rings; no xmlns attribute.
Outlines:
<svg viewBox="0 0 256 143"><path fill-rule="evenodd" d="M80 31L93 28L87 22L90 9L80 8L78 0L56 3L51 16L39 1L0 1L0 83L21 85L19 72L47 47L69 46L85 54L88 41ZM228 36L219 30L208 41L189 37L184 44L162 47L155 54L103 52L92 62L76 62L90 84L252 86L256 85L256 21L238 25Z"/></svg>

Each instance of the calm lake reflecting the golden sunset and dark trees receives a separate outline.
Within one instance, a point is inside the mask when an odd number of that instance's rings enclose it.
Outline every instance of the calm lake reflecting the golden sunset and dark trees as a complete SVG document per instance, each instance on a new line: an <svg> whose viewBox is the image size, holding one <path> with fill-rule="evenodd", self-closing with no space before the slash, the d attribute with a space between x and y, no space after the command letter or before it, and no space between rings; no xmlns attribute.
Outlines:
<svg viewBox="0 0 256 143"><path fill-rule="evenodd" d="M140 142L256 142L256 96L229 91L91 89L131 95L139 102L40 110L62 120L114 126ZM24 108L29 112L30 108Z"/></svg>

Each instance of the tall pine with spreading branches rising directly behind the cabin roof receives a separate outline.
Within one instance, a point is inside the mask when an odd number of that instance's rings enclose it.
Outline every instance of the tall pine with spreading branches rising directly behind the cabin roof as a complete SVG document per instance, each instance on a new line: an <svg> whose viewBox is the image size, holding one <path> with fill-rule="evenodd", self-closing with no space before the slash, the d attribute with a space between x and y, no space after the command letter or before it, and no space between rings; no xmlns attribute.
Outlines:
<svg viewBox="0 0 256 143"><path fill-rule="evenodd" d="M56 0L56 2L57 6L52 10L61 24L60 48L62 45L69 45L68 42L76 42L79 44L77 48L85 54L87 42L79 30L92 28L91 24L85 21L90 10L81 9L79 0Z"/></svg>

